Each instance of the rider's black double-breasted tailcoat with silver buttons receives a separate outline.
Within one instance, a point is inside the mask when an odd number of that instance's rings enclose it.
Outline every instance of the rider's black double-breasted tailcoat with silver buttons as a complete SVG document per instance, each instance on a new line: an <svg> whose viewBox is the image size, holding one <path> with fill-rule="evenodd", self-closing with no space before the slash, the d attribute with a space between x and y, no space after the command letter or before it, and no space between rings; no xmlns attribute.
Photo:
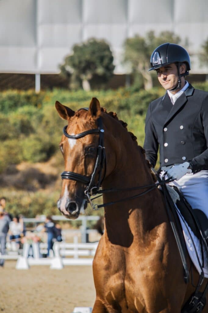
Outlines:
<svg viewBox="0 0 208 313"><path fill-rule="evenodd" d="M150 103L144 149L153 167L159 147L161 166L191 161L193 172L208 170L208 92L189 84L174 105L168 93Z"/></svg>

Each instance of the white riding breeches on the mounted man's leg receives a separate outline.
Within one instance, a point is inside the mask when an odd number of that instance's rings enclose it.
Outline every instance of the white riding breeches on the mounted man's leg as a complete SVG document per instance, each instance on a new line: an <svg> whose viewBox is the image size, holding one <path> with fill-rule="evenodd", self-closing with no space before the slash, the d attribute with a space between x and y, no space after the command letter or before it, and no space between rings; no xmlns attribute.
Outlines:
<svg viewBox="0 0 208 313"><path fill-rule="evenodd" d="M193 209L200 209L208 218L208 171L186 174L171 182L183 194Z"/></svg>

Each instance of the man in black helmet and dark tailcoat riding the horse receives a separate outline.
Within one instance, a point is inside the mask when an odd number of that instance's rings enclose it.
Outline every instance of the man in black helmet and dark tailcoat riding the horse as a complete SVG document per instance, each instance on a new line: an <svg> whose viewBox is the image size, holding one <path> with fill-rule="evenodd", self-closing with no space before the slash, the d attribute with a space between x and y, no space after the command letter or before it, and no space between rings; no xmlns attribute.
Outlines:
<svg viewBox="0 0 208 313"><path fill-rule="evenodd" d="M175 179L174 185L193 209L208 217L208 92L185 80L191 64L183 47L162 44L150 62L149 70L156 70L167 92L152 101L147 111L146 158L155 167L160 147L160 171ZM207 224L205 237L208 240Z"/></svg>

